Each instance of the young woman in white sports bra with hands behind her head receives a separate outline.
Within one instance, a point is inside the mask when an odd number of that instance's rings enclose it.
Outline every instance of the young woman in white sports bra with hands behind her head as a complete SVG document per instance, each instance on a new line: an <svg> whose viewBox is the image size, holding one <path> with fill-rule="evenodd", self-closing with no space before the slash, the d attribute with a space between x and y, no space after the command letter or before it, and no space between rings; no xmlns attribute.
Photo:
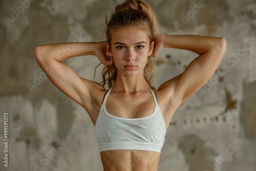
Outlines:
<svg viewBox="0 0 256 171"><path fill-rule="evenodd" d="M77 43L70 55L62 50L73 42L37 46L35 58L55 86L88 112L104 170L156 171L175 110L214 74L226 42L220 37L158 33L154 11L142 0L118 5L105 35L106 41ZM163 48L199 56L184 73L155 90L152 58ZM79 77L61 63L81 55L95 55L105 65L103 85Z"/></svg>

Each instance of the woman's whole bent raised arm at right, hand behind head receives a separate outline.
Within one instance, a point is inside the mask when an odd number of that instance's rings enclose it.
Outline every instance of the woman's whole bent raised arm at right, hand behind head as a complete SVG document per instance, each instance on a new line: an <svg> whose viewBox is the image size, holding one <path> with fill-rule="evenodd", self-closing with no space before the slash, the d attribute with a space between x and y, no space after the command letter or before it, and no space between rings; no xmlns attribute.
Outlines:
<svg viewBox="0 0 256 171"><path fill-rule="evenodd" d="M226 50L226 41L221 37L199 35L158 35L162 48L193 51L199 56L179 76L163 83L162 90L178 105L198 91L215 73ZM158 41L159 42L159 41ZM174 99L175 98L175 99Z"/></svg>

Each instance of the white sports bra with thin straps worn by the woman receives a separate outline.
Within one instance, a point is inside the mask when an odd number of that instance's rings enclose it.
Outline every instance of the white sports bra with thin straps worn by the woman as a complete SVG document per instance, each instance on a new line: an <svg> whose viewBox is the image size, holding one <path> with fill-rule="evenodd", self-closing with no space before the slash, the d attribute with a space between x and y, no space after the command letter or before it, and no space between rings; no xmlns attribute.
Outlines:
<svg viewBox="0 0 256 171"><path fill-rule="evenodd" d="M120 118L106 111L105 102L112 87L106 91L99 116L95 124L95 135L100 152L130 149L161 153L166 134L165 122L156 95L155 110L143 118Z"/></svg>

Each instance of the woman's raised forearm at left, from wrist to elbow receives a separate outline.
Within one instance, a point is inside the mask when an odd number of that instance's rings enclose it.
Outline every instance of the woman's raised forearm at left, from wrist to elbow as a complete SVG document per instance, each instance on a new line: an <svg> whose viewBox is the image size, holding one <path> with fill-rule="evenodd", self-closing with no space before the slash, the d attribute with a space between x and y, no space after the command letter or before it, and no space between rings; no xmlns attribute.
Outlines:
<svg viewBox="0 0 256 171"><path fill-rule="evenodd" d="M69 57L82 55L95 55L94 42L66 42L60 44L41 45L35 48L37 60L57 61L65 60Z"/></svg>

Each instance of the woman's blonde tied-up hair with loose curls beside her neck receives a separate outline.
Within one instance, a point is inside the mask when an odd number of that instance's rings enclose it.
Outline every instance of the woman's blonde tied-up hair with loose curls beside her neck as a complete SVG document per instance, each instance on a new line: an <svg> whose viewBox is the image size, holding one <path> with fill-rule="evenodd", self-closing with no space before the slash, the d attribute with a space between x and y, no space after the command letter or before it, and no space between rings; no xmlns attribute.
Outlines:
<svg viewBox="0 0 256 171"><path fill-rule="evenodd" d="M119 28L138 27L147 32L150 38L150 44L153 42L155 33L159 32L157 17L151 6L142 0L126 0L123 4L116 6L110 19L106 19L105 38L111 45L113 32ZM158 59L158 56L156 57ZM147 58L144 68L144 79L153 89L152 81L155 76L154 62L151 57ZM105 66L102 70L103 86L108 83L109 88L113 86L117 78L117 68L112 63L111 66Z"/></svg>

